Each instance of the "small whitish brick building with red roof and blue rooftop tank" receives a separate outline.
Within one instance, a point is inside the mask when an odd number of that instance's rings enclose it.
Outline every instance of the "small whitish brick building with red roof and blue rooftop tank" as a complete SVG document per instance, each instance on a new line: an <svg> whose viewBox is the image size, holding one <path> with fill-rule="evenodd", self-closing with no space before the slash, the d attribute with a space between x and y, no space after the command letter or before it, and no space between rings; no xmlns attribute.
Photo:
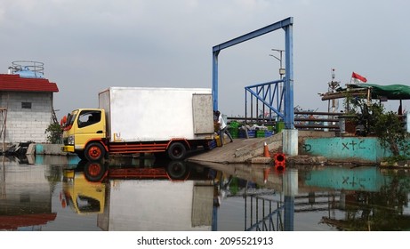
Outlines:
<svg viewBox="0 0 410 249"><path fill-rule="evenodd" d="M54 92L59 88L44 78L44 63L13 61L8 74L0 74L0 141L45 142L45 129L57 122Z"/></svg>

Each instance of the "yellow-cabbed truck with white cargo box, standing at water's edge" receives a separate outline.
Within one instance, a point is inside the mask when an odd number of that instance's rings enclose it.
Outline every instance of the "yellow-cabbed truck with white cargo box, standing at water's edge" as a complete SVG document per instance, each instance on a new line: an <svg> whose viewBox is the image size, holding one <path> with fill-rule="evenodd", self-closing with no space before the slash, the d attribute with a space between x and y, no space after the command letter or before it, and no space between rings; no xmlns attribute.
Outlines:
<svg viewBox="0 0 410 249"><path fill-rule="evenodd" d="M213 147L212 89L109 87L98 99L99 108L63 118L63 152L91 162L141 153L182 160L190 150Z"/></svg>

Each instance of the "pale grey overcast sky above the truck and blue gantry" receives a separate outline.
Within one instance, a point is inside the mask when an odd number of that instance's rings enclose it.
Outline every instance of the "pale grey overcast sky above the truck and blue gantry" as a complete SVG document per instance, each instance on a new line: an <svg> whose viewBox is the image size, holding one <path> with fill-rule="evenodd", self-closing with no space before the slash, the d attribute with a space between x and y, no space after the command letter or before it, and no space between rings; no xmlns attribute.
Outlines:
<svg viewBox="0 0 410 249"><path fill-rule="evenodd" d="M410 84L409 10L406 0L0 0L0 73L44 62L60 118L97 108L109 86L212 88L214 45L293 17L294 106L327 111L318 92L332 68L342 86L353 71ZM222 113L244 116L245 86L279 78L272 49L285 49L283 30L221 51Z"/></svg>

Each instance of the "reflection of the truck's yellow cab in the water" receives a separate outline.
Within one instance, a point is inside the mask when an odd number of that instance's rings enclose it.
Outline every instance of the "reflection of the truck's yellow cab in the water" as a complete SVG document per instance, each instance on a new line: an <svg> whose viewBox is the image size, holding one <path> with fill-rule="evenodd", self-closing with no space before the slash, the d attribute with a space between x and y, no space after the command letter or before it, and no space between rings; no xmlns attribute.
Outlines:
<svg viewBox="0 0 410 249"><path fill-rule="evenodd" d="M60 202L78 214L104 212L105 184L85 179L83 172L64 170Z"/></svg>

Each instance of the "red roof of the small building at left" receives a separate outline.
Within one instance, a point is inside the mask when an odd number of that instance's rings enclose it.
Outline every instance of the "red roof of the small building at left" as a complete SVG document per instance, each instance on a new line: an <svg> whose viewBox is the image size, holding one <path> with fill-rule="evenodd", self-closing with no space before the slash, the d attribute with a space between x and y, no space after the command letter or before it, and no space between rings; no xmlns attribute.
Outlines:
<svg viewBox="0 0 410 249"><path fill-rule="evenodd" d="M0 74L0 91L59 92L57 84L45 78L28 78L20 75Z"/></svg>

